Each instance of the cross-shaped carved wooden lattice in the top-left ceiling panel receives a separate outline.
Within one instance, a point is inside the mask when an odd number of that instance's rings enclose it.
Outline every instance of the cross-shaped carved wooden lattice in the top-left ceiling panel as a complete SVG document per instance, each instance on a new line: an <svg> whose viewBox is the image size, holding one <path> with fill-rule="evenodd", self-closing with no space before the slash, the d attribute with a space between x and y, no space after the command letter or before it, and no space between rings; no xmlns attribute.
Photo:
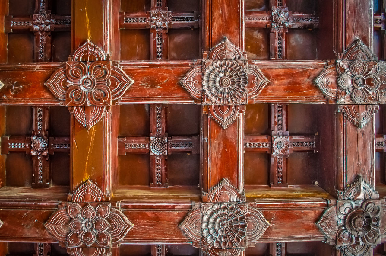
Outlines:
<svg viewBox="0 0 386 256"><path fill-rule="evenodd" d="M5 16L5 32L29 30L35 35L35 61L50 61L51 31L70 31L71 16L51 14L48 0L36 0L36 8L29 18Z"/></svg>

